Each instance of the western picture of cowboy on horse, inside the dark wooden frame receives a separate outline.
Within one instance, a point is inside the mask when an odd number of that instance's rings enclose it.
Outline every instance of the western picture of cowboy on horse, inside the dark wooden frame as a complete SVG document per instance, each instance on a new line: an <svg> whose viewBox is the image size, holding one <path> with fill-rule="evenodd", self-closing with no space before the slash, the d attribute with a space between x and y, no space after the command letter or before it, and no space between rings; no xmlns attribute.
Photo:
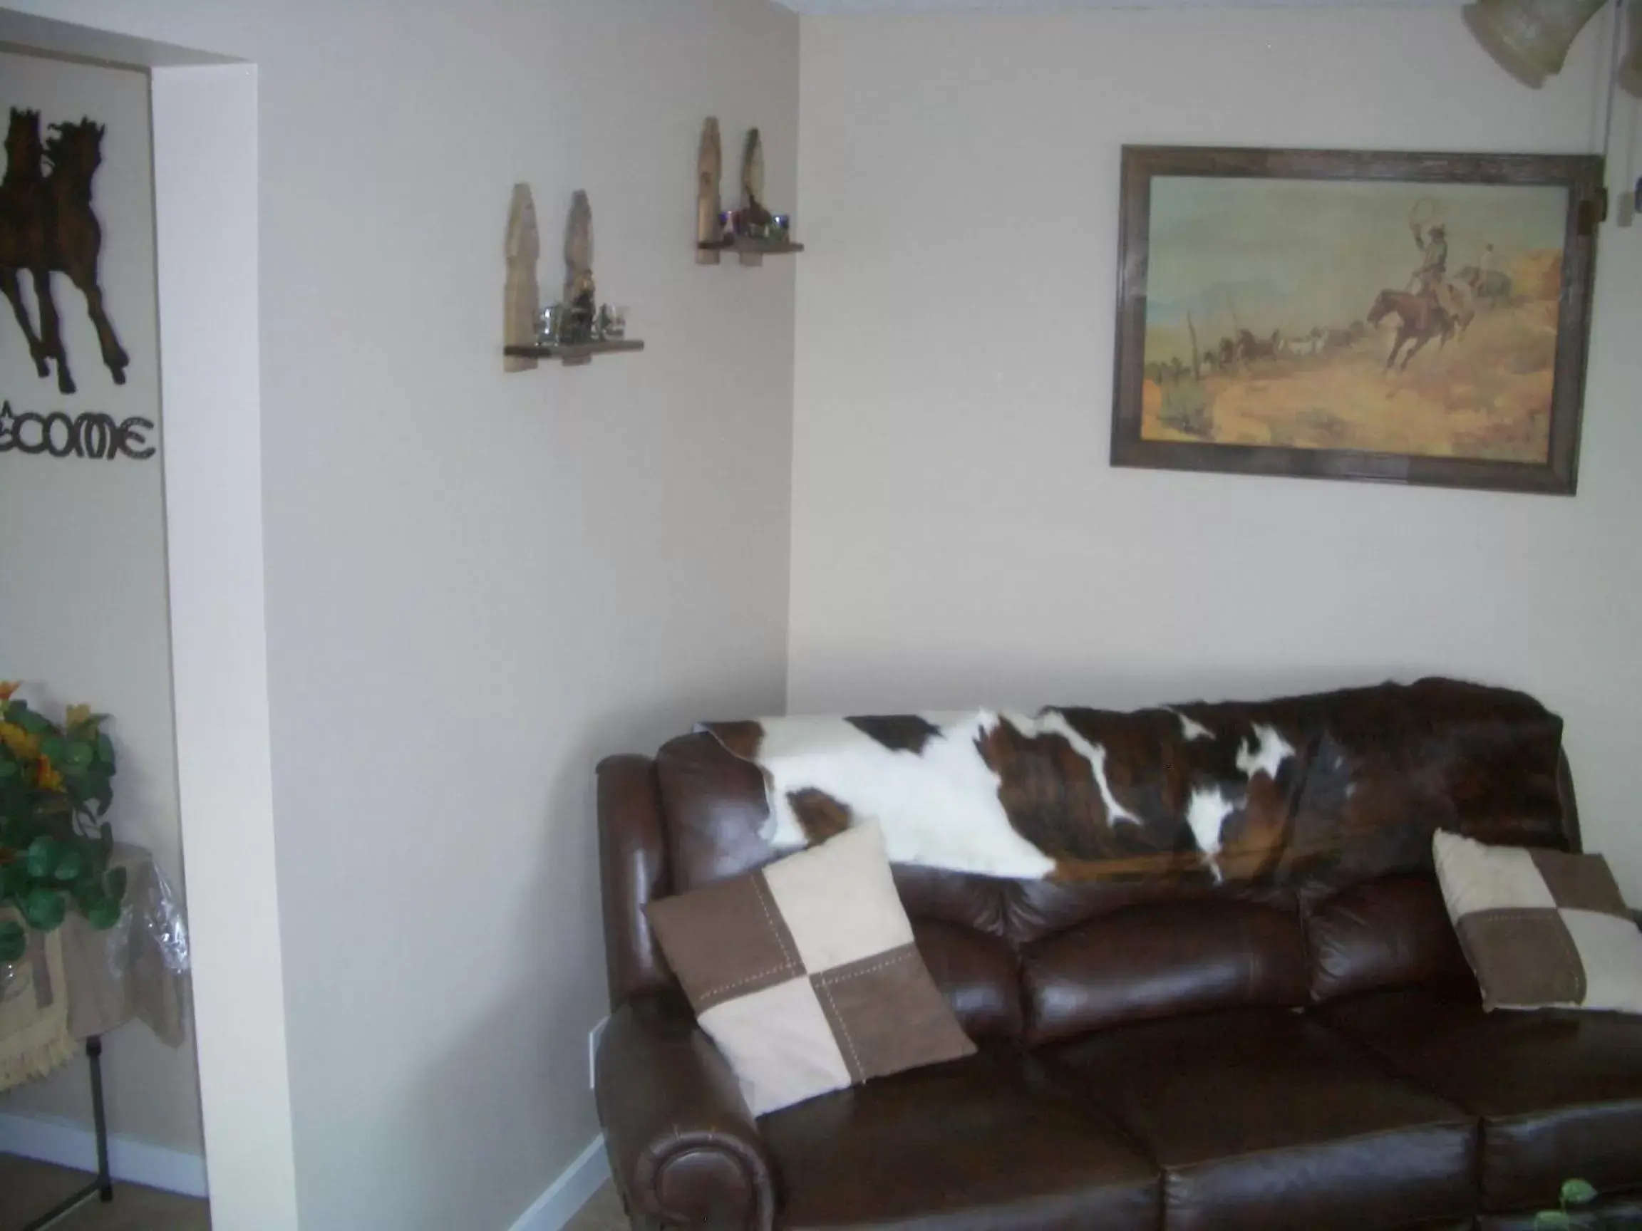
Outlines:
<svg viewBox="0 0 1642 1231"><path fill-rule="evenodd" d="M1543 461L1568 189L1146 158L1141 442Z"/></svg>

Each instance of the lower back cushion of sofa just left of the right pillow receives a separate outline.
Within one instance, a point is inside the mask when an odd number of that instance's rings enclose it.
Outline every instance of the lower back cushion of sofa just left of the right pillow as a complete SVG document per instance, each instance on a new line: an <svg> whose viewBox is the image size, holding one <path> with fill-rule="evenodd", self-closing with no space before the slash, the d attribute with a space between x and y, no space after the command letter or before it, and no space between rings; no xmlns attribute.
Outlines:
<svg viewBox="0 0 1642 1231"><path fill-rule="evenodd" d="M1430 875L1381 876L1325 898L1305 916L1305 947L1314 1001L1471 977Z"/></svg>

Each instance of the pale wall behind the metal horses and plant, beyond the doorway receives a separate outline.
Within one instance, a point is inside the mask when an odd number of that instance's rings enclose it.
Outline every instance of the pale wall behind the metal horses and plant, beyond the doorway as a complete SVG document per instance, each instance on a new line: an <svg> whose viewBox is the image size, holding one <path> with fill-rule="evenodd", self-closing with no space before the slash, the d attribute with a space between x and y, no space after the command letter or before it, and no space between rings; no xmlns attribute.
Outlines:
<svg viewBox="0 0 1642 1231"><path fill-rule="evenodd" d="M154 320L154 205L148 79L133 71L0 54L0 120L36 108L41 125L89 115L107 125L94 181L102 222L102 287L131 356L126 384L102 364L85 302L67 277L53 299L79 391L39 379L10 309L0 312L0 399L15 414L100 410L159 422ZM30 287L31 317L33 292ZM161 428L163 430L163 428ZM159 433L148 433L159 443ZM112 714L120 753L110 822L122 840L154 850L182 893L171 721L171 635L161 461L0 453L0 678L61 717L85 701ZM200 1149L192 1041L172 1050L140 1024L107 1039L108 1123L115 1134L187 1152ZM0 1114L90 1124L84 1064L0 1096Z"/></svg>

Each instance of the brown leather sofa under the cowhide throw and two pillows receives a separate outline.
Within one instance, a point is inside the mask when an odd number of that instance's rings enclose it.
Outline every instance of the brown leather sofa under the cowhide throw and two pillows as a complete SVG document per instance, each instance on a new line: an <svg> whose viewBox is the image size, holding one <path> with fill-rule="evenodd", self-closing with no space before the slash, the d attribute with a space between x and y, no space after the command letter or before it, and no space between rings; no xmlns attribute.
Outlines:
<svg viewBox="0 0 1642 1231"><path fill-rule="evenodd" d="M1282 888L897 868L980 1054L754 1121L642 908L775 857L759 771L696 734L598 786L598 1108L635 1228L1525 1231L1571 1177L1642 1213L1642 1019L1484 1014L1424 868Z"/></svg>

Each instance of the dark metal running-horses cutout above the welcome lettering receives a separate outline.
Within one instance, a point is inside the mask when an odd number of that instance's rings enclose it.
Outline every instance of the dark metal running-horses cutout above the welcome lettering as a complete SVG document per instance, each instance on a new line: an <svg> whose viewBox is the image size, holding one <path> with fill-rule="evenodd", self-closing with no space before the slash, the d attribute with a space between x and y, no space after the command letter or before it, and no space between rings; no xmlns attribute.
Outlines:
<svg viewBox="0 0 1642 1231"><path fill-rule="evenodd" d="M120 348L97 284L102 227L92 212L92 177L102 166L105 130L100 123L80 120L51 125L48 131L51 136L41 141L39 112L11 108L5 177L0 179L0 294L10 300L16 323L28 338L34 371L48 378L48 361L54 359L57 389L72 394L74 376L69 373L69 356L57 323L57 304L51 297L51 276L67 274L85 295L85 310L97 327L103 363L115 384L125 384L130 358ZM38 333L20 297L18 276L23 272L34 282Z"/></svg>

